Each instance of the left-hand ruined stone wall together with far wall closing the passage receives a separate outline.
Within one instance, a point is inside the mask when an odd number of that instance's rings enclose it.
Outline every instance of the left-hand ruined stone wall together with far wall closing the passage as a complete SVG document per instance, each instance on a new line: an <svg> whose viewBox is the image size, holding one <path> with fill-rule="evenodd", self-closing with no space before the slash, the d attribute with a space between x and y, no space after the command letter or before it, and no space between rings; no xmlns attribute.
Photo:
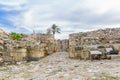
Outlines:
<svg viewBox="0 0 120 80"><path fill-rule="evenodd" d="M54 40L52 34L22 34L21 40L13 40L3 30L0 33L1 62L36 61L54 52L69 50L69 40Z"/></svg>

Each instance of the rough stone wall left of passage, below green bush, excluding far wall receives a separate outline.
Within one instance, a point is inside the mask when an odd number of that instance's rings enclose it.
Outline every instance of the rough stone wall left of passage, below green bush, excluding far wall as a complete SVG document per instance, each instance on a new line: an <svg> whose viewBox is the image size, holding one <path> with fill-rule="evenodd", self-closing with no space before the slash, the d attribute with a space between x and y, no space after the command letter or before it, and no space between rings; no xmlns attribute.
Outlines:
<svg viewBox="0 0 120 80"><path fill-rule="evenodd" d="M53 53L53 36L48 34L24 35L21 40L0 40L0 54L4 62L38 60Z"/></svg>

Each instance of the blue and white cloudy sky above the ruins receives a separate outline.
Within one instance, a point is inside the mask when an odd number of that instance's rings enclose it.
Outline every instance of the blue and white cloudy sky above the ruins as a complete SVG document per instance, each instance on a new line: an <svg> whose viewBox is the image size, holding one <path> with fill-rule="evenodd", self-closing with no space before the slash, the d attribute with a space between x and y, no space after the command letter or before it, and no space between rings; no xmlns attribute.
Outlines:
<svg viewBox="0 0 120 80"><path fill-rule="evenodd" d="M0 28L45 33L61 28L56 38L101 28L120 27L120 0L0 0Z"/></svg>

